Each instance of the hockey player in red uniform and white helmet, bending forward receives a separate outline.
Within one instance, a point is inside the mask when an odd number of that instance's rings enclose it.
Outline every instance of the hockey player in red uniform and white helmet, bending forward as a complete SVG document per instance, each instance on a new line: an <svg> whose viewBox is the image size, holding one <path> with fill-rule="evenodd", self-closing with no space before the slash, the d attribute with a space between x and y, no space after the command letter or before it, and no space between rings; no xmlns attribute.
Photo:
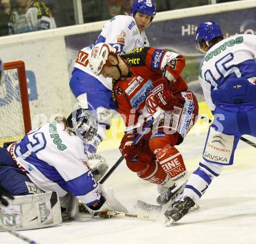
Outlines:
<svg viewBox="0 0 256 244"><path fill-rule="evenodd" d="M127 166L143 180L158 184L159 204L168 203L186 181L187 171L175 145L182 143L194 125L198 103L180 73L184 57L175 52L141 47L117 55L108 44L94 46L89 58L94 74L113 78L113 95L126 124L120 152ZM153 127L136 145L141 124L161 108Z"/></svg>

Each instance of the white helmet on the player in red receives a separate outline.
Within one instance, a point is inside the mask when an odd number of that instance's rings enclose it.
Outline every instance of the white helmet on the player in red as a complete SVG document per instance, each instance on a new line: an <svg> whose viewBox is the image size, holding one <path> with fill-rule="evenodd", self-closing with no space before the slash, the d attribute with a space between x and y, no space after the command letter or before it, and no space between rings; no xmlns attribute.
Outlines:
<svg viewBox="0 0 256 244"><path fill-rule="evenodd" d="M118 51L109 44L98 43L95 45L89 55L89 64L93 73L98 76L104 66L112 66L108 61L108 55L116 55L117 53Z"/></svg>

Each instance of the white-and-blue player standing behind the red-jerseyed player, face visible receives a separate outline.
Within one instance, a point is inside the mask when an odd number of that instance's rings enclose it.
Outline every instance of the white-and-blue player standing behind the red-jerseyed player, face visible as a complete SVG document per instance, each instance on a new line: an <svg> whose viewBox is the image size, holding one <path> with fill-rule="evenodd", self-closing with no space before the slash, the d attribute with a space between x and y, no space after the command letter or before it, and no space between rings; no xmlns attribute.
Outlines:
<svg viewBox="0 0 256 244"><path fill-rule="evenodd" d="M133 48L149 46L145 29L155 16L154 0L136 0L131 9L131 16L118 15L109 20L99 34L99 42L111 44L119 54L126 53ZM105 138L106 130L110 127L111 112L116 110L112 99L112 79L95 76L88 65L91 46L79 51L72 77L70 89L83 108L97 110L99 128L97 137L88 141L88 152L95 153L99 143ZM118 66L117 66L118 67Z"/></svg>

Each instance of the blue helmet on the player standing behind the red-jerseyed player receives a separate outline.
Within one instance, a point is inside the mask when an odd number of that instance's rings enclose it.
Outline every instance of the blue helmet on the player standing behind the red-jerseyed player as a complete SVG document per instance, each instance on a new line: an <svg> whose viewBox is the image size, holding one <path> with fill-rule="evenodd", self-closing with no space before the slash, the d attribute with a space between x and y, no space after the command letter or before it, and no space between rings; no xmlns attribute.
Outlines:
<svg viewBox="0 0 256 244"><path fill-rule="evenodd" d="M135 16L136 12L151 16L151 21L155 17L155 2L154 0L135 0L131 7L131 16Z"/></svg>

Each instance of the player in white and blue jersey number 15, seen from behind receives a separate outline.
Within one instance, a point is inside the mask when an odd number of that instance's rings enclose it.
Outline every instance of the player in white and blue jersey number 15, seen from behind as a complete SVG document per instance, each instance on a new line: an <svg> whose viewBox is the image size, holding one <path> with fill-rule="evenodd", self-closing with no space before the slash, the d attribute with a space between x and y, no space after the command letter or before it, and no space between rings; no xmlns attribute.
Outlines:
<svg viewBox="0 0 256 244"><path fill-rule="evenodd" d="M256 137L256 35L223 38L215 21L201 23L195 33L198 51L206 53L199 80L214 114L199 167L191 174L182 200L165 212L167 223L186 214L224 166L233 164L241 135Z"/></svg>

